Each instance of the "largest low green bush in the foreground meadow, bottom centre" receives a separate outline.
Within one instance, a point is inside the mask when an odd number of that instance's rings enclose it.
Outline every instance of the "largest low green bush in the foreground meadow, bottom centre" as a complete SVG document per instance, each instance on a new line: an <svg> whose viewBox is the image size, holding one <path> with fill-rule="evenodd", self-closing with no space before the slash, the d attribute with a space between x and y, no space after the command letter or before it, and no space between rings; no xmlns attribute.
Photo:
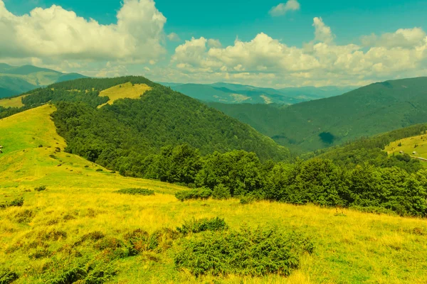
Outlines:
<svg viewBox="0 0 427 284"><path fill-rule="evenodd" d="M176 253L177 269L193 275L290 275L302 253L312 253L311 241L300 234L270 229L206 232L187 239Z"/></svg>

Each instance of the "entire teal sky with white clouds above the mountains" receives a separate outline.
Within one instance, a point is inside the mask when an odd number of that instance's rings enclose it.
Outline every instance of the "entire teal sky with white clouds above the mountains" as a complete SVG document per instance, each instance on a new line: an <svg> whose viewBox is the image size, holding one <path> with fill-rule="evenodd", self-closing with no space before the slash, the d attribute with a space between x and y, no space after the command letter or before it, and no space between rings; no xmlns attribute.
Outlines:
<svg viewBox="0 0 427 284"><path fill-rule="evenodd" d="M0 0L0 62L263 87L427 76L422 0Z"/></svg>

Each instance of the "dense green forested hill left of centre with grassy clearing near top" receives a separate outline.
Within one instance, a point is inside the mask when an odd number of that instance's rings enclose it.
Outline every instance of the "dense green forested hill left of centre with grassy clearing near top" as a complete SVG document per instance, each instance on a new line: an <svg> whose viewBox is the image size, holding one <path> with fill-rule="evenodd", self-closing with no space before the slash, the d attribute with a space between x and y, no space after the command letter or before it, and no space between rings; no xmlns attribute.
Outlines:
<svg viewBox="0 0 427 284"><path fill-rule="evenodd" d="M145 84L150 90L140 99L118 99L97 109L109 100L100 97L102 90L127 82ZM244 150L255 152L262 160L288 157L286 148L251 126L144 77L60 82L28 92L22 102L21 109L56 104L53 117L58 133L68 141L68 151L112 168L117 163L135 166L133 161L142 163L164 146L184 143L203 155Z"/></svg>

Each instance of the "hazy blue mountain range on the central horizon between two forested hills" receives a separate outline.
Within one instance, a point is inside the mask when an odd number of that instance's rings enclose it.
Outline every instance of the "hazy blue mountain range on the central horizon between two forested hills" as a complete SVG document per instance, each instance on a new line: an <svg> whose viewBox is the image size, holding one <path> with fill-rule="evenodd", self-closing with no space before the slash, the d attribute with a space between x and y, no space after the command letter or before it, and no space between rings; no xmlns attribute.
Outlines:
<svg viewBox="0 0 427 284"><path fill-rule="evenodd" d="M334 97L349 92L356 87L289 87L272 89L253 87L244 84L179 84L160 83L174 91L186 94L203 102L221 102L223 104L297 104L313 99Z"/></svg>

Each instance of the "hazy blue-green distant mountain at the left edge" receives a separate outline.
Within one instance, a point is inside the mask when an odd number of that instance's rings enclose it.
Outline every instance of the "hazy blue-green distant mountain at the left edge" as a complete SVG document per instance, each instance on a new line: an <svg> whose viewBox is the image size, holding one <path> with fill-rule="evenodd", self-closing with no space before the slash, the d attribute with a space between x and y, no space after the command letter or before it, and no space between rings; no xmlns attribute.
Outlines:
<svg viewBox="0 0 427 284"><path fill-rule="evenodd" d="M38 87L85 77L78 73L61 73L33 65L17 67L0 63L0 98L13 97Z"/></svg>

